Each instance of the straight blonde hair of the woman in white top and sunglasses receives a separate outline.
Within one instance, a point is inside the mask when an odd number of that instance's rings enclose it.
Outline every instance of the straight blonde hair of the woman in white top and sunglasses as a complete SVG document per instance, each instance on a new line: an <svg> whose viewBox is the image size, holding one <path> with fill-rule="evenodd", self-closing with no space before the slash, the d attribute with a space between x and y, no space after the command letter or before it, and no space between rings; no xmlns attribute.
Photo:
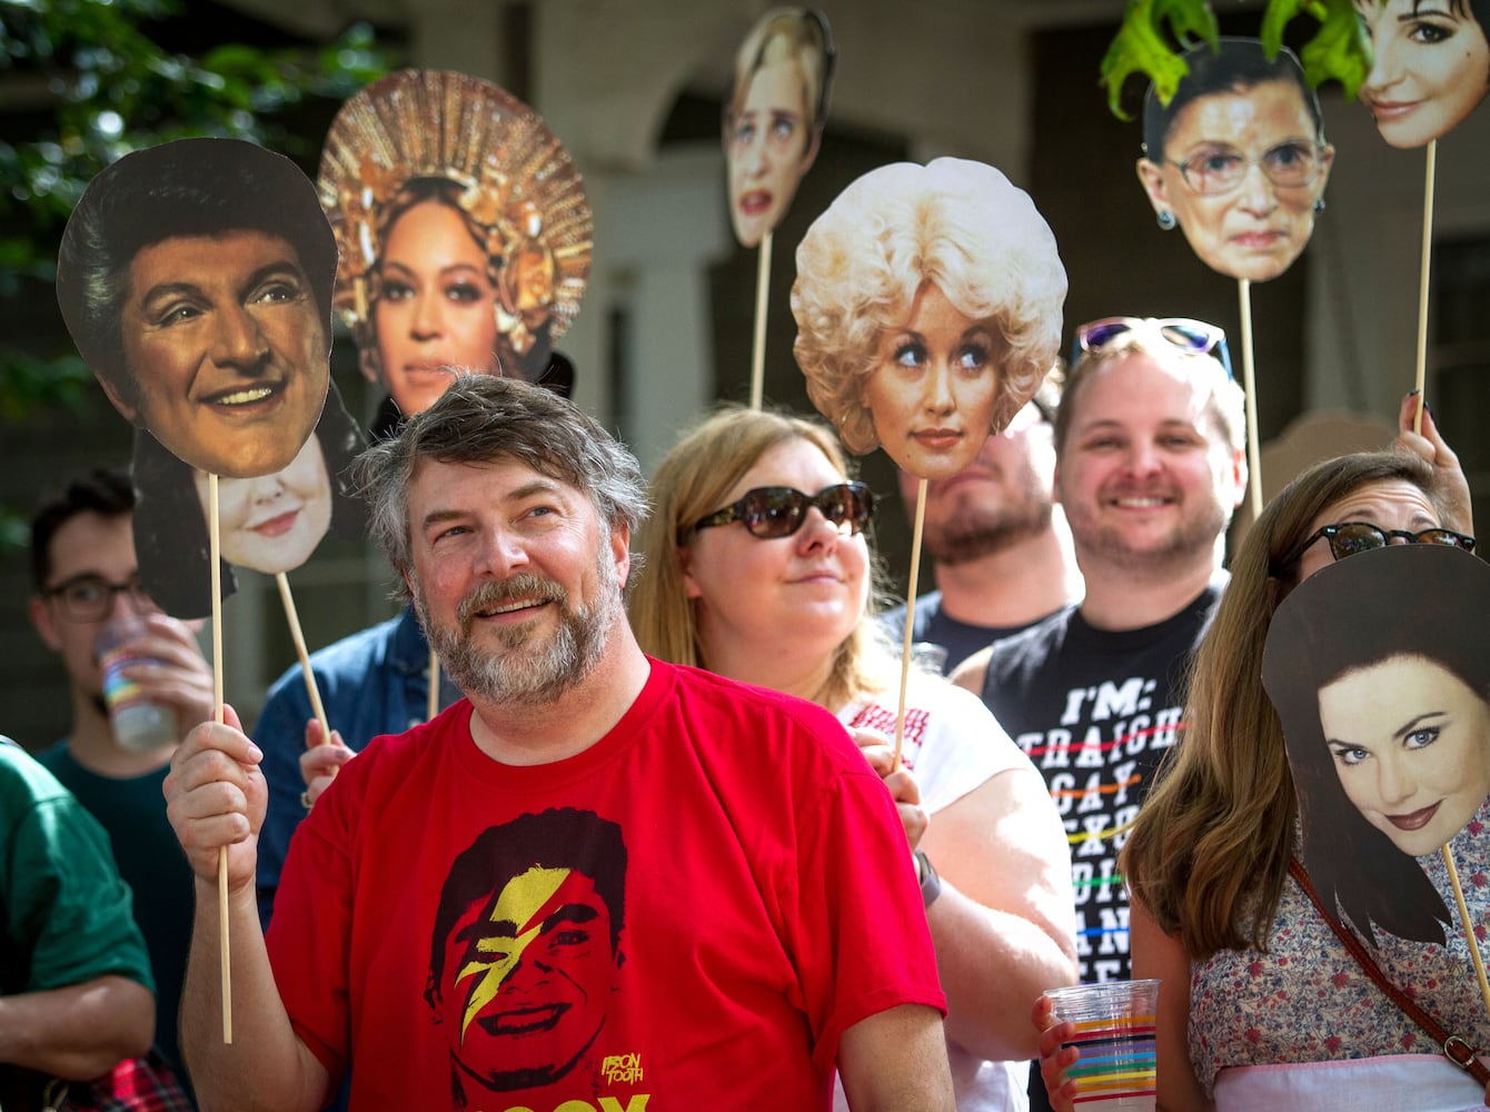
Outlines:
<svg viewBox="0 0 1490 1112"><path fill-rule="evenodd" d="M699 644L699 623L684 583L682 560L690 537L679 534L720 510L730 489L776 444L803 440L834 470L852 470L833 434L822 425L785 413L723 408L685 432L651 481L651 516L639 532L645 563L627 598L632 631L642 650L670 663L708 668ZM870 560L873 584L875 562ZM873 590L873 586L872 586ZM879 654L867 611L837 647L833 671L817 702L833 710L857 693L879 690Z"/></svg>

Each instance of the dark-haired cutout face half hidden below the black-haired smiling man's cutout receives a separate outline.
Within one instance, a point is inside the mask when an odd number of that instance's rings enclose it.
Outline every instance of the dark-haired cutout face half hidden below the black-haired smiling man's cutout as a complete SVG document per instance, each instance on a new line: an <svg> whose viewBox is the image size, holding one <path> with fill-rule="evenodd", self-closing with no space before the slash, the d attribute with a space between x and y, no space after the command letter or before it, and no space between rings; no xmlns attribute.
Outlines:
<svg viewBox="0 0 1490 1112"><path fill-rule="evenodd" d="M218 480L224 598L237 586L232 568L277 575L310 559L331 528L344 540L362 538L367 507L349 474L362 447L362 431L331 383L316 432L289 467L271 476ZM206 617L212 610L207 474L143 431L131 471L134 547L145 589L167 614Z"/></svg>

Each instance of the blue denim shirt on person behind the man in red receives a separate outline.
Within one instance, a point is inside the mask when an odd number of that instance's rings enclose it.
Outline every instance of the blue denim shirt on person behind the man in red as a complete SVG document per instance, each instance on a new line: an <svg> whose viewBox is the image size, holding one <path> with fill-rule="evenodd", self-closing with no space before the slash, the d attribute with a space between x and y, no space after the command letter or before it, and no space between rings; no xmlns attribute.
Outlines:
<svg viewBox="0 0 1490 1112"><path fill-rule="evenodd" d="M429 642L413 607L313 653L310 665L326 720L352 750L362 750L380 733L402 733L425 721ZM441 674L440 705L448 707L459 698L459 689ZM289 839L305 817L299 802L305 787L299 754L305 751L305 723L313 717L304 674L295 665L270 687L253 730L255 744L264 750L261 768L270 792L258 865L259 918L265 929Z"/></svg>

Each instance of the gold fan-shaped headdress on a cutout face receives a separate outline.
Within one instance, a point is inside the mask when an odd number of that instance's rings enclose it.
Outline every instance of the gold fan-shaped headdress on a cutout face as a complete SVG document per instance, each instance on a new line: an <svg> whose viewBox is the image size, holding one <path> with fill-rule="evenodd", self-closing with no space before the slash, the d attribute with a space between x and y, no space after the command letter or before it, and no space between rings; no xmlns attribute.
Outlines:
<svg viewBox="0 0 1490 1112"><path fill-rule="evenodd" d="M362 371L381 379L372 307L377 262L408 185L451 183L487 255L496 328L517 356L548 325L557 340L580 312L592 218L574 162L530 107L496 85L447 70L401 70L349 100L320 155L320 204L337 236L335 306ZM536 368L542 370L542 368Z"/></svg>

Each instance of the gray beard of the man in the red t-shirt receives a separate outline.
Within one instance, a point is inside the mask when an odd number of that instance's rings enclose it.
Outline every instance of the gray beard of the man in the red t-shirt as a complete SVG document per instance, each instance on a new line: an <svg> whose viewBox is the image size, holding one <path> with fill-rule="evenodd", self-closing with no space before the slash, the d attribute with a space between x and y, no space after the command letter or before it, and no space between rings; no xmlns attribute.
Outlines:
<svg viewBox="0 0 1490 1112"><path fill-rule="evenodd" d="M568 592L550 578L529 572L489 581L456 607L456 625L435 626L423 587L416 602L429 644L438 653L456 686L471 698L489 702L539 707L557 702L589 677L605 653L609 632L620 614L620 577L602 555L597 571L600 592L590 607L571 607ZM559 605L559 628L544 644L533 644L538 619L498 628L502 650L487 654L471 638L477 611L520 598L547 598Z"/></svg>

